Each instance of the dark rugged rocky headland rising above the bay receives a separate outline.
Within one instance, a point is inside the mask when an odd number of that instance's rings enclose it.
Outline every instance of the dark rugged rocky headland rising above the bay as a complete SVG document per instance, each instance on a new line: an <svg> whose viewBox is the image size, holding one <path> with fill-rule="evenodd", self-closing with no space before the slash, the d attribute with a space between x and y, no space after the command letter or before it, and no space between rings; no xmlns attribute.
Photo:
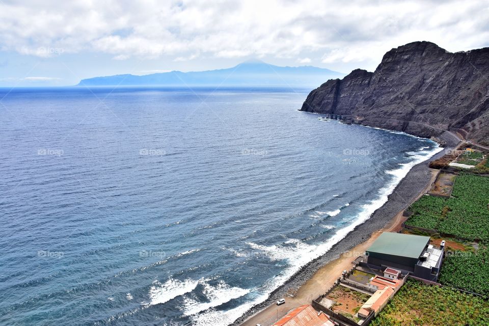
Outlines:
<svg viewBox="0 0 489 326"><path fill-rule="evenodd" d="M489 48L451 53L430 42L400 46L374 72L357 69L328 80L301 111L421 137L448 130L489 144Z"/></svg>

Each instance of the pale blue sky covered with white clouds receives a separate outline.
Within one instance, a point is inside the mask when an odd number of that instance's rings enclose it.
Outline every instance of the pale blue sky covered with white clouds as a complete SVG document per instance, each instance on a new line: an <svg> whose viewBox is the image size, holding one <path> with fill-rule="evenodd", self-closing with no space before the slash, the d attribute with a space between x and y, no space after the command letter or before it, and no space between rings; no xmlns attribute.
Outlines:
<svg viewBox="0 0 489 326"><path fill-rule="evenodd" d="M229 68L259 59L369 71L388 50L431 41L489 46L489 2L0 0L0 86Z"/></svg>

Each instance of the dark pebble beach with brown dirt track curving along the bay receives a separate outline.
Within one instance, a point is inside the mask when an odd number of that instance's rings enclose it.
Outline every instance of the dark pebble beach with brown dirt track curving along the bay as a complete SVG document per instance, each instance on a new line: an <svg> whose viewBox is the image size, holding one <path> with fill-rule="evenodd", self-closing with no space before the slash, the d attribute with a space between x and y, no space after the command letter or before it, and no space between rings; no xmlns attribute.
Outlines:
<svg viewBox="0 0 489 326"><path fill-rule="evenodd" d="M319 292L319 294L328 290L330 286L324 287L327 283L313 282L316 273L325 274L329 272L329 274L332 274L332 269L334 269L335 266L329 266L331 267L329 268L330 270L324 269L328 269L326 268L328 265L334 264L335 262L337 263L338 260L341 260L338 258L341 258L342 254L356 247L362 247L361 249L364 249L363 247L365 247L369 241L374 239L373 236L376 233L378 235L380 234L379 231L400 224L396 223L396 221L400 219L399 216L402 217L402 211L416 201L432 182L433 169L428 167L429 161L443 156L444 152L451 149L451 147L452 146L447 147L431 157L428 157L423 162L413 166L408 174L399 181L394 191L388 196L387 202L376 209L368 220L356 226L354 230L346 234L345 237L335 243L327 253L304 265L283 285L271 292L265 301L250 308L231 323L230 326L255 326L257 323L261 323L264 326L268 323L272 324L279 317L285 315L290 309L301 304L310 303L313 298L318 296L315 295L316 293L302 293L308 291L311 292L310 289L307 289L308 287L315 287L315 291L313 292ZM402 219L400 220L402 221ZM362 244L363 246L361 246ZM360 248L357 249L360 250ZM360 254L361 253L347 255L347 257L343 257L343 260L346 258L347 262L348 259L352 261ZM337 273L337 270L331 278L336 281L343 269L340 268L339 273ZM313 283L313 285L308 283ZM288 296L287 294L289 293L294 293L294 297ZM280 307L272 305L281 297L286 298L285 305ZM305 298L307 298L307 300L304 300ZM270 322L269 319L273 319L273 321Z"/></svg>

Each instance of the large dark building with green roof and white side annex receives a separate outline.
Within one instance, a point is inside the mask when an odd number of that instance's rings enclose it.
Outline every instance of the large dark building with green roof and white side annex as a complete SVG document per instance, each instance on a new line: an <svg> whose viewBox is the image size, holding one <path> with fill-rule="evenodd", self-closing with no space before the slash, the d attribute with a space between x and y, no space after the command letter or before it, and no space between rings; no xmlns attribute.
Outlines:
<svg viewBox="0 0 489 326"><path fill-rule="evenodd" d="M366 263L379 270L387 267L402 274L436 281L443 260L443 248L429 244L429 236L384 232L365 251Z"/></svg>

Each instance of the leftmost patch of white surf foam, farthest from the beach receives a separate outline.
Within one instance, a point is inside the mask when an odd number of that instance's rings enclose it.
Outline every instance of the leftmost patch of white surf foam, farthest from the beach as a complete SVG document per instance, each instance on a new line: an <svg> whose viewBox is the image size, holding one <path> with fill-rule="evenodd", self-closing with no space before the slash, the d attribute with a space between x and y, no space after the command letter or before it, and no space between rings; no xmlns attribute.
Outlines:
<svg viewBox="0 0 489 326"><path fill-rule="evenodd" d="M152 306L157 304L164 304L177 296L193 291L199 281L185 280L179 281L170 278L165 284L161 284L159 281L154 281L153 285L149 289L149 297L151 301L149 304L143 303L145 306Z"/></svg>

